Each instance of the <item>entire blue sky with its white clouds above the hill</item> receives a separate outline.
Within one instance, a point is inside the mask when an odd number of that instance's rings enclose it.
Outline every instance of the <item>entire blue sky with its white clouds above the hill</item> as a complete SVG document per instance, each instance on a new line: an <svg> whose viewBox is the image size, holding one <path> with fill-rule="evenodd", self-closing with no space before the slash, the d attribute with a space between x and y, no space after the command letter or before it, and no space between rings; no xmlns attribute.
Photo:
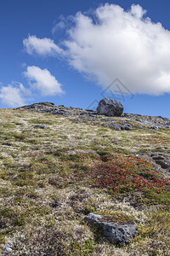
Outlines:
<svg viewBox="0 0 170 256"><path fill-rule="evenodd" d="M0 0L0 108L94 109L108 96L126 113L170 118L169 8L168 0Z"/></svg>

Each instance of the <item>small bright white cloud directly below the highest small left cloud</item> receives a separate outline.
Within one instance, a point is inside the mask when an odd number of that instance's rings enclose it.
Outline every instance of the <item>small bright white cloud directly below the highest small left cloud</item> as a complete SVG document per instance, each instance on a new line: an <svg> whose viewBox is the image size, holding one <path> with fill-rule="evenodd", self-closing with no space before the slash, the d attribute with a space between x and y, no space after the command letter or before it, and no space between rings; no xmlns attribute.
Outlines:
<svg viewBox="0 0 170 256"><path fill-rule="evenodd" d="M48 69L41 69L35 66L27 67L24 74L29 79L31 89L40 91L42 96L54 96L64 93L61 90L61 84L59 84Z"/></svg>

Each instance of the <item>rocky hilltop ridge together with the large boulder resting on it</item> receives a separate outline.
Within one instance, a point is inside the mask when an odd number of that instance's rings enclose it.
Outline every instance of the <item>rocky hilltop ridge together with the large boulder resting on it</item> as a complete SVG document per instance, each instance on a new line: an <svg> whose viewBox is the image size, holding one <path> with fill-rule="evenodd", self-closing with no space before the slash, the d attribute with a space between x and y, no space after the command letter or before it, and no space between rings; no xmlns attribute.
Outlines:
<svg viewBox="0 0 170 256"><path fill-rule="evenodd" d="M104 102L104 103L102 103ZM101 105L101 106L100 106ZM16 108L14 108L16 109ZM103 99L99 102L97 111L91 109L72 108L65 107L64 105L55 106L52 102L39 102L31 105L27 105L21 108L21 110L31 110L38 113L52 113L55 115L62 115L65 117L74 117L78 122L86 122L86 120L100 122L105 127L110 127L116 131L127 130L130 131L132 128L150 128L152 130L158 130L160 128L170 128L170 120L161 116L147 116L137 113L122 113L123 107L120 102L112 101L111 99ZM100 112L101 111L101 112ZM103 111L103 112L102 112ZM125 119L122 125L116 124L116 118L104 118L102 116L120 116ZM131 125L128 124L128 119L131 120ZM133 122L134 120L134 122ZM114 123L115 122L115 123ZM114 124L114 125L112 125ZM133 125L132 125L133 124ZM122 126L122 127L121 127ZM43 129L43 128L42 128ZM154 132L154 131L153 131Z"/></svg>

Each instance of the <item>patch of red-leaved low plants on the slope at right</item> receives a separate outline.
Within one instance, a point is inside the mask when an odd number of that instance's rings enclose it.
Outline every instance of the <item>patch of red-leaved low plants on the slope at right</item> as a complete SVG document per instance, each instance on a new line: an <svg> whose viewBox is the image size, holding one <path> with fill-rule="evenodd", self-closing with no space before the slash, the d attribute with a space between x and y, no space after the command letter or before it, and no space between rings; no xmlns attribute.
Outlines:
<svg viewBox="0 0 170 256"><path fill-rule="evenodd" d="M107 161L100 161L91 169L95 186L110 189L111 193L142 191L155 201L169 203L170 182L152 170L150 162L139 157L112 155ZM159 194L164 196L161 197Z"/></svg>

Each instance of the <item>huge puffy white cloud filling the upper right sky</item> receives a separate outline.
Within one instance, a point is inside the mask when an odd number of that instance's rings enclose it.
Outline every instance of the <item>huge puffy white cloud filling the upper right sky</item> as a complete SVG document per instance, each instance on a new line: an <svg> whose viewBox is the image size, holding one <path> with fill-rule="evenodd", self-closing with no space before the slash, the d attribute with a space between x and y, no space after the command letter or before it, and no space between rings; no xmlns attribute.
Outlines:
<svg viewBox="0 0 170 256"><path fill-rule="evenodd" d="M93 19L78 13L65 41L71 67L104 89L118 78L133 93L169 93L170 32L145 14L139 5L125 11L108 3Z"/></svg>

